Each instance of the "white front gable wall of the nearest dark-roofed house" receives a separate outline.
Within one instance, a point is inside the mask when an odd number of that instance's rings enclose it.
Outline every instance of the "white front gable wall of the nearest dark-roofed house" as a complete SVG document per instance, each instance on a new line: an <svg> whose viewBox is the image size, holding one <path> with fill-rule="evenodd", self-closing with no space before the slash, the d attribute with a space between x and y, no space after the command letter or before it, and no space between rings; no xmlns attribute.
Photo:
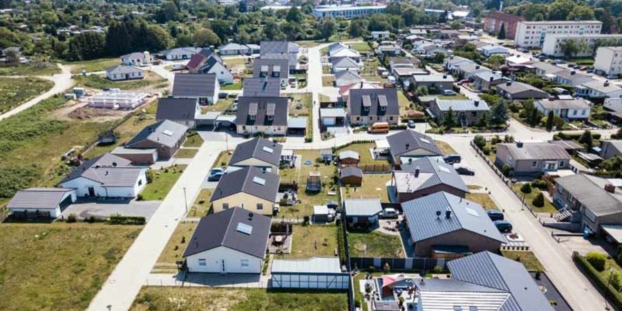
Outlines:
<svg viewBox="0 0 622 311"><path fill-rule="evenodd" d="M205 260L205 265L202 261ZM186 257L189 272L203 273L261 273L263 258L220 246Z"/></svg>

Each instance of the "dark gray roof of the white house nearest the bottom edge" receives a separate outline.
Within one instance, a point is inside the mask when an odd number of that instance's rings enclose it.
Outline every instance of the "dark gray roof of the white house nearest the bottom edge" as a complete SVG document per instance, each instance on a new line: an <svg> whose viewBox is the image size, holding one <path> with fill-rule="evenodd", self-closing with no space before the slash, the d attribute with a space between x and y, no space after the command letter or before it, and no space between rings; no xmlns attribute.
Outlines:
<svg viewBox="0 0 622 311"><path fill-rule="evenodd" d="M238 231L238 224L252 227L251 233ZM205 252L216 247L227 247L257 258L265 256L270 234L270 217L253 213L240 207L225 209L199 220L184 257Z"/></svg>

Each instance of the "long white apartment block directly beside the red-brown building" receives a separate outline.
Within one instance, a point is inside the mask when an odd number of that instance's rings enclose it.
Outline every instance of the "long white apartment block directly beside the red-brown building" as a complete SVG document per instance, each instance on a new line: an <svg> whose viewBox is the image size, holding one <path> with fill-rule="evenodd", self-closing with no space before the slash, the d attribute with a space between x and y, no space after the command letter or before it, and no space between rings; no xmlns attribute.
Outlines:
<svg viewBox="0 0 622 311"><path fill-rule="evenodd" d="M514 44L521 48L541 48L547 35L596 35L600 21L519 21Z"/></svg>

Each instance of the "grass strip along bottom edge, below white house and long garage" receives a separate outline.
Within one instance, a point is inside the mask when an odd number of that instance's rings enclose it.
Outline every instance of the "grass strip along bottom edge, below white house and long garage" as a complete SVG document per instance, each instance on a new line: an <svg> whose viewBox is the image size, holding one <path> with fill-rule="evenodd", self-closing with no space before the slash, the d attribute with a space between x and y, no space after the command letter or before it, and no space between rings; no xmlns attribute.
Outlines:
<svg viewBox="0 0 622 311"><path fill-rule="evenodd" d="M143 287L131 311L345 311L345 292L286 292L259 288Z"/></svg>

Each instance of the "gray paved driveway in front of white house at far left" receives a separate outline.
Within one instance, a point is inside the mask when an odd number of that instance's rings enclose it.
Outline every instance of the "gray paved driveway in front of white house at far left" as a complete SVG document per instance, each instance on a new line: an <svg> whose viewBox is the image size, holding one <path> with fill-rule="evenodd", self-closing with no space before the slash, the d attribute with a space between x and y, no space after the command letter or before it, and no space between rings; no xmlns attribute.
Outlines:
<svg viewBox="0 0 622 311"><path fill-rule="evenodd" d="M156 212L162 201L136 201L136 200L78 200L67 207L62 216L68 217L75 214L79 218L95 216L106 218L113 214L123 216L143 216L149 218Z"/></svg>

